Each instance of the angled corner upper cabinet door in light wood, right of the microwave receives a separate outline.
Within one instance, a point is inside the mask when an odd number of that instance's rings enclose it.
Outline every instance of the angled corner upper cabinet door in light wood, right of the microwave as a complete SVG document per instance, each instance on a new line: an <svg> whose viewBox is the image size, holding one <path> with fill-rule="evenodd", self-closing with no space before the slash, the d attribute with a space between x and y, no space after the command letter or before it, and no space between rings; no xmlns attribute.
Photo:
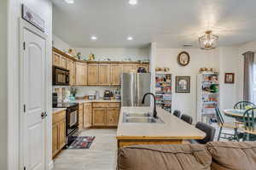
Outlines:
<svg viewBox="0 0 256 170"><path fill-rule="evenodd" d="M76 85L84 86L87 83L87 65L86 63L76 62Z"/></svg>

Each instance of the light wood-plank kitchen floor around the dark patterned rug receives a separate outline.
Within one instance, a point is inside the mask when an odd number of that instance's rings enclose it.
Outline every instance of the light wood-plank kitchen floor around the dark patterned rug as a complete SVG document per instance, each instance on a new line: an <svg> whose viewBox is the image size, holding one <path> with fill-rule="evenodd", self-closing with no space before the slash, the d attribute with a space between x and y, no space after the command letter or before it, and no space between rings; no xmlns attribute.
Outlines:
<svg viewBox="0 0 256 170"><path fill-rule="evenodd" d="M88 150L62 150L54 159L54 170L116 169L116 129L89 129L80 136L96 136L96 139Z"/></svg>

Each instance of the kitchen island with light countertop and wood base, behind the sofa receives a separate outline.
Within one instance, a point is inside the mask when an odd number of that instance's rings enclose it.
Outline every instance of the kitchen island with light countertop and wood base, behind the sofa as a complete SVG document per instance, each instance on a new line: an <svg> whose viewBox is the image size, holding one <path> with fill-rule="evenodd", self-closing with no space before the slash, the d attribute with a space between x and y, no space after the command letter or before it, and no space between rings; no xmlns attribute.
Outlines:
<svg viewBox="0 0 256 170"><path fill-rule="evenodd" d="M122 107L117 130L118 147L134 144L182 144L187 139L204 139L206 133L187 122L157 108L162 122L125 122L125 114L152 112L150 107Z"/></svg>

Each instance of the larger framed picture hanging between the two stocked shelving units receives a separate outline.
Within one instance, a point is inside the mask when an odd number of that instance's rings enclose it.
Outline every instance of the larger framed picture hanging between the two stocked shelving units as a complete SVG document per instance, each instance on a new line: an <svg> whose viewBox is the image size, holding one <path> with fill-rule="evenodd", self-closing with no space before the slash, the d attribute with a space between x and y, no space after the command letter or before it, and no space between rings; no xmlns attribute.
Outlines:
<svg viewBox="0 0 256 170"><path fill-rule="evenodd" d="M190 77L176 77L176 93L190 93Z"/></svg>

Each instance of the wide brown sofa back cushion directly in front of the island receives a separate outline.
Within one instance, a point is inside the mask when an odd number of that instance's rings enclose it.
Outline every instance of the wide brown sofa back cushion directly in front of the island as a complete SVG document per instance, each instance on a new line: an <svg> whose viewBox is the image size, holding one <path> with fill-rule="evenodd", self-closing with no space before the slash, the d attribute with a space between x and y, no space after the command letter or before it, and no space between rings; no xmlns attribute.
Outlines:
<svg viewBox="0 0 256 170"><path fill-rule="evenodd" d="M202 144L134 145L119 149L119 170L211 170Z"/></svg>

